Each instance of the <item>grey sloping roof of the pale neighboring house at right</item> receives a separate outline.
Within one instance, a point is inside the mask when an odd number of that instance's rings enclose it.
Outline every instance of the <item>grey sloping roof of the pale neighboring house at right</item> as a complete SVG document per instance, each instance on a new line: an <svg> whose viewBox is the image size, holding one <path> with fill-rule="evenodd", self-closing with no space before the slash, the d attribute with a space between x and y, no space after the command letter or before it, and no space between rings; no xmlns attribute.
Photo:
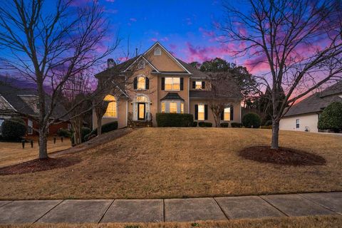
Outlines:
<svg viewBox="0 0 342 228"><path fill-rule="evenodd" d="M342 94L342 81L326 88L326 90L323 90L321 93L314 93L308 98L301 100L301 102L296 103L289 109L284 117L321 113L329 104L333 102L342 102L342 98L339 94Z"/></svg>

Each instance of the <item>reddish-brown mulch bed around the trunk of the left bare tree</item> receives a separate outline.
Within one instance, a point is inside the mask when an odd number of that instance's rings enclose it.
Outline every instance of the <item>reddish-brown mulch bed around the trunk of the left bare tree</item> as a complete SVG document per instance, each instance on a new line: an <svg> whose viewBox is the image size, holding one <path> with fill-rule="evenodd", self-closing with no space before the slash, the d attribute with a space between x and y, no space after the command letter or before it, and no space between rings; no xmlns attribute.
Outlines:
<svg viewBox="0 0 342 228"><path fill-rule="evenodd" d="M10 165L0 168L0 175L19 175L29 172L40 172L53 170L61 167L68 167L81 162L75 157L58 157L47 159L35 159L28 162L22 162L16 165Z"/></svg>

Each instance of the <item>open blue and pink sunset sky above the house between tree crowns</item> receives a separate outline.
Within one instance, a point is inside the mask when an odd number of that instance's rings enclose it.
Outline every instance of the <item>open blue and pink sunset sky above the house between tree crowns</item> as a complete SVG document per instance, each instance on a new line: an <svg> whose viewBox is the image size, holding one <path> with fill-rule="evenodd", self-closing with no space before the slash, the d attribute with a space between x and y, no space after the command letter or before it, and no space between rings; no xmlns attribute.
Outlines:
<svg viewBox="0 0 342 228"><path fill-rule="evenodd" d="M75 5L86 1L79 0ZM219 57L229 62L245 63L244 58L229 56L232 44L222 43L222 32L216 28L224 21L220 0L98 0L98 4L104 7L110 20L111 36L119 34L122 39L113 58L127 55L129 38L130 56L134 55L135 48L142 53L155 41L160 41L177 58L186 62Z"/></svg>

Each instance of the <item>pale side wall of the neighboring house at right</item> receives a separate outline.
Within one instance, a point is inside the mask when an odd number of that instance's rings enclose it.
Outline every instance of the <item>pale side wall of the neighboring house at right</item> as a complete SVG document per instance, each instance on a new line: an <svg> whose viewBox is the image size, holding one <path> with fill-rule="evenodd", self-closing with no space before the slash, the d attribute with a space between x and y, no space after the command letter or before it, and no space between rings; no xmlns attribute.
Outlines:
<svg viewBox="0 0 342 228"><path fill-rule="evenodd" d="M296 119L299 119L299 128L296 128ZM293 117L286 117L280 120L280 130L299 130L305 131L308 127L309 132L317 133L318 128L318 114L296 115Z"/></svg>

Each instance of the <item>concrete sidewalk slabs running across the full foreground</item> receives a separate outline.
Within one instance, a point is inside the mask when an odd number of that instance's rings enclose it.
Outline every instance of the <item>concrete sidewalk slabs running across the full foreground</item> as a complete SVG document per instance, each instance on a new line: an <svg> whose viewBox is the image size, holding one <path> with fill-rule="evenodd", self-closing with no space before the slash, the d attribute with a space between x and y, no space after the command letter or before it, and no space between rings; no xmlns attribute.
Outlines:
<svg viewBox="0 0 342 228"><path fill-rule="evenodd" d="M192 222L342 214L342 192L189 199L0 201L0 224Z"/></svg>

